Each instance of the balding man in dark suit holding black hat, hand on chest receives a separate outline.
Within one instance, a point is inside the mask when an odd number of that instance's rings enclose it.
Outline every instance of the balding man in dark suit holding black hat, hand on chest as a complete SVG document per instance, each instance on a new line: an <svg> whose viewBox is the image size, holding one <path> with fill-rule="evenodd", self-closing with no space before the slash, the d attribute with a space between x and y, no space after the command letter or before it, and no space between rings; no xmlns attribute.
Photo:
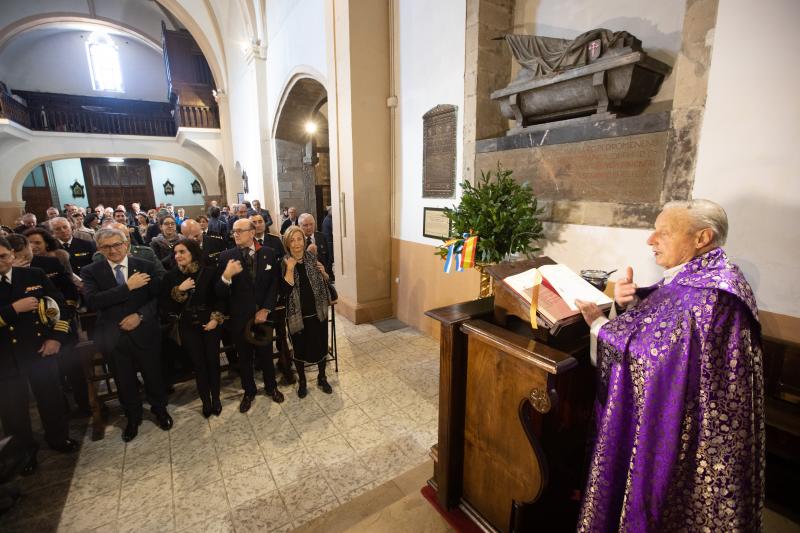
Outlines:
<svg viewBox="0 0 800 533"><path fill-rule="evenodd" d="M255 346L245 338L247 323L253 319L254 323L263 324L275 308L280 276L280 264L275 253L266 246L256 250L254 234L253 223L247 218L234 223L236 247L220 254L217 280L217 294L229 302L233 339L239 354L239 372L244 389L239 404L242 413L250 409L256 396L254 362L264 373L264 392L277 403L283 401L283 394L275 381L271 339L265 346Z"/></svg>

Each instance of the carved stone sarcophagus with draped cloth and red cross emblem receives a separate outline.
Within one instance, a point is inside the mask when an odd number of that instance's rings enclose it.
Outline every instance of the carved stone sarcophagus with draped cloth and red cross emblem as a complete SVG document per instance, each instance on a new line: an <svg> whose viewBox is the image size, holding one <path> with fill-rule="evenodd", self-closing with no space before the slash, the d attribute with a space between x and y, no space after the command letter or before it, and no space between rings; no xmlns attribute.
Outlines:
<svg viewBox="0 0 800 533"><path fill-rule="evenodd" d="M522 67L508 87L491 95L503 115L516 122L508 135L578 117L637 114L671 70L624 31L596 29L571 41L534 35L506 35L505 40Z"/></svg>

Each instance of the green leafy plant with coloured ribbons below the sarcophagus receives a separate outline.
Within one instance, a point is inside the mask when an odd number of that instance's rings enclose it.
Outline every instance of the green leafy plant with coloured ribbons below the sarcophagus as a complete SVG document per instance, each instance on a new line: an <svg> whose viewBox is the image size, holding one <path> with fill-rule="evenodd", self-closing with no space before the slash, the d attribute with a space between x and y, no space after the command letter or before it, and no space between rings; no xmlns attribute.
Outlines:
<svg viewBox="0 0 800 533"><path fill-rule="evenodd" d="M465 233L478 235L478 262L499 263L511 254L540 250L535 246L542 238L536 196L528 183L514 181L512 172L500 164L494 172L481 171L474 186L468 181L461 184L461 203L444 210L452 222L451 239L463 241ZM445 257L447 248L439 247L436 253Z"/></svg>

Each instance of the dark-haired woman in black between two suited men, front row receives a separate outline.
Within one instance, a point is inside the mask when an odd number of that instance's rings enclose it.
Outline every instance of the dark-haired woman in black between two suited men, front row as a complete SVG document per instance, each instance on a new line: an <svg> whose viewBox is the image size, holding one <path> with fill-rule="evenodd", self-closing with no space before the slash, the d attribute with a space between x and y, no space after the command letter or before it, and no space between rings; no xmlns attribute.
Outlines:
<svg viewBox="0 0 800 533"><path fill-rule="evenodd" d="M196 242L184 239L172 252L176 268L161 281L159 306L164 314L177 317L178 339L192 358L203 416L219 416L219 326L224 314L214 292L217 276L213 268L202 266L203 253Z"/></svg>

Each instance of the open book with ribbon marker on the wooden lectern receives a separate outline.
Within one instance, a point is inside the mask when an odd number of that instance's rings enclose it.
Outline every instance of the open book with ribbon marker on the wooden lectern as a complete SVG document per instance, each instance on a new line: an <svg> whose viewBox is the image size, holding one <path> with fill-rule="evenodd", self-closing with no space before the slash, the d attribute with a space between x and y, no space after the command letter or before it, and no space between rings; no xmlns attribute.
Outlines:
<svg viewBox="0 0 800 533"><path fill-rule="evenodd" d="M613 303L605 293L597 290L565 265L542 265L538 269L532 268L503 278L502 282L526 302L531 303L537 270L541 274L542 282L539 285L536 314L544 319L544 325L548 328L582 320L575 300L594 302L603 311L607 311Z"/></svg>

